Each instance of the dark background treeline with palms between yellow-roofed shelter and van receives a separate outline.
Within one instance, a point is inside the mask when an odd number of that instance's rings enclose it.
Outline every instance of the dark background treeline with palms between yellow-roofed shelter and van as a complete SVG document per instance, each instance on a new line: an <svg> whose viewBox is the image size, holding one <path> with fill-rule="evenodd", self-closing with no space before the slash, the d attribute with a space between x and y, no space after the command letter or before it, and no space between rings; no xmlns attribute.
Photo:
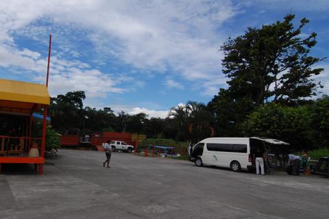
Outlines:
<svg viewBox="0 0 329 219"><path fill-rule="evenodd" d="M182 141L197 141L215 134L215 120L203 103L188 102L173 107L168 118L147 118L143 113L129 115L120 112L116 115L110 107L103 110L84 107L84 98L84 91L75 91L51 99L52 125L56 131L65 133L74 129L82 134L118 131Z"/></svg>

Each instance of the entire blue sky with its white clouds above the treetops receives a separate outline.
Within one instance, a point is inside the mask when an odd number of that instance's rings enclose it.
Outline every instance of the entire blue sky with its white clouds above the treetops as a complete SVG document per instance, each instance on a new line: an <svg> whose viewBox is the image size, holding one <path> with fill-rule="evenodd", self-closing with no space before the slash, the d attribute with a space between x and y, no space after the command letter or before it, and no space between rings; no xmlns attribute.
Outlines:
<svg viewBox="0 0 329 219"><path fill-rule="evenodd" d="M312 55L328 57L329 1L1 1L0 78L45 83L51 96L84 90L85 105L167 116L226 88L219 48L247 27L292 12L315 31ZM315 77L329 94L328 60Z"/></svg>

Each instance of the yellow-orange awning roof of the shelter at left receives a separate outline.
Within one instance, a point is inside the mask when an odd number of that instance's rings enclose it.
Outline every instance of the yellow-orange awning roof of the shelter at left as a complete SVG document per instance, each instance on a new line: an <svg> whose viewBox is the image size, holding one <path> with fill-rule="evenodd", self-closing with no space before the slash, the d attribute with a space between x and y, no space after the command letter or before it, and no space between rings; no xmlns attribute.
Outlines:
<svg viewBox="0 0 329 219"><path fill-rule="evenodd" d="M50 96L43 84L0 79L0 112L31 114L49 103Z"/></svg>

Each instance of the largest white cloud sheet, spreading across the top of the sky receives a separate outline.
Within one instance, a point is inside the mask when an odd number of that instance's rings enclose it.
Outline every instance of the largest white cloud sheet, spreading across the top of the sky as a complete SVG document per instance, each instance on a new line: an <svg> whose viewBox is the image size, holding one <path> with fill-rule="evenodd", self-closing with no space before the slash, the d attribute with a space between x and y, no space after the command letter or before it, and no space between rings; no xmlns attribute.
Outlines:
<svg viewBox="0 0 329 219"><path fill-rule="evenodd" d="M79 34L74 34L79 29L103 54L99 63L111 55L136 68L160 72L170 68L188 80L209 81L220 71L217 50L226 40L218 27L236 14L236 8L229 0L58 0L1 1L0 12L0 40L12 42L11 33L41 39L53 31L61 49L80 57L75 45L70 46L74 42L67 40L79 41ZM51 27L42 24L47 21Z"/></svg>

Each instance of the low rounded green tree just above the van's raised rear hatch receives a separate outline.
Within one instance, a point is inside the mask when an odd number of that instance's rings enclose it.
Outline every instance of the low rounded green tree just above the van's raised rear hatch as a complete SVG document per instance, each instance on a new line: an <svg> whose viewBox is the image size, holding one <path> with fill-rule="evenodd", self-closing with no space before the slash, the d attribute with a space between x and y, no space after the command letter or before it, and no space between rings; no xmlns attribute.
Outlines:
<svg viewBox="0 0 329 219"><path fill-rule="evenodd" d="M288 107L267 103L254 110L242 127L247 137L276 138L289 142L296 149L313 146L306 135L309 129L306 106Z"/></svg>

